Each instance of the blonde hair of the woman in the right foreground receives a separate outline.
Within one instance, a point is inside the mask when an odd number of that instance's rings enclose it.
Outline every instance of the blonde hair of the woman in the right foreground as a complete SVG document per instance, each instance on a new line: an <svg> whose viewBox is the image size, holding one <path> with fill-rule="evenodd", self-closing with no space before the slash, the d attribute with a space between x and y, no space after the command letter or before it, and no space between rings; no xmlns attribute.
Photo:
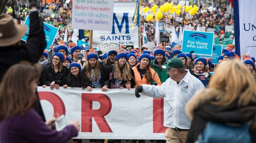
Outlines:
<svg viewBox="0 0 256 143"><path fill-rule="evenodd" d="M256 103L256 84L250 71L239 60L223 61L212 76L208 88L225 92L213 104L226 106L238 99L238 106Z"/></svg>

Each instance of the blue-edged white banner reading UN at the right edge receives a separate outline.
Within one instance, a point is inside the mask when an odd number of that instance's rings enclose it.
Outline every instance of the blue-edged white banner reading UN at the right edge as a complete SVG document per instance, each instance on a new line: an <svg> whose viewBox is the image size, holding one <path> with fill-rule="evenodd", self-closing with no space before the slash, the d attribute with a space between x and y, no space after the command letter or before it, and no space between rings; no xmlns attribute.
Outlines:
<svg viewBox="0 0 256 143"><path fill-rule="evenodd" d="M238 56L250 54L256 57L256 0L233 0L235 51Z"/></svg>

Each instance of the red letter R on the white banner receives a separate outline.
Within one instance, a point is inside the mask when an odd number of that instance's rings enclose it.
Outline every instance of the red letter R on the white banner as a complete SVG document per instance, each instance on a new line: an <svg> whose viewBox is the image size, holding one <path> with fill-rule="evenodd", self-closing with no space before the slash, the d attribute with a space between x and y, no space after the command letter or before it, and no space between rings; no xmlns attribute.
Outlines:
<svg viewBox="0 0 256 143"><path fill-rule="evenodd" d="M100 108L93 110L92 101L100 102ZM92 117L101 132L113 132L104 118L105 115L109 114L111 108L112 103L107 95L82 93L81 132L92 132Z"/></svg>

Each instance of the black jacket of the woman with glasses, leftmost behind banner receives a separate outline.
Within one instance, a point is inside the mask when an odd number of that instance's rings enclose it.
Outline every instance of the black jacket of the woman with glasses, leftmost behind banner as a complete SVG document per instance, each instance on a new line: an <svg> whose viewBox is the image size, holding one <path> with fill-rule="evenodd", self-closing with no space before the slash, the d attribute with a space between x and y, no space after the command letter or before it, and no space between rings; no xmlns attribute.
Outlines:
<svg viewBox="0 0 256 143"><path fill-rule="evenodd" d="M52 81L55 81L55 84L63 86L66 84L66 77L68 75L69 69L65 66L62 67L61 72L58 71L57 73L55 73L54 69L52 69L52 66L48 66L43 69L41 84L50 86Z"/></svg>

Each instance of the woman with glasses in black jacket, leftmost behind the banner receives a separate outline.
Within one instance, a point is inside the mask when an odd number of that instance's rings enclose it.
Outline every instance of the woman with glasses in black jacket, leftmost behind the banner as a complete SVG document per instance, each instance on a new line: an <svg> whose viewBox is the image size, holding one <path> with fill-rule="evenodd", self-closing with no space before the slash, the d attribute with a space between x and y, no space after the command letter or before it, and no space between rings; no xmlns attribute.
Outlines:
<svg viewBox="0 0 256 143"><path fill-rule="evenodd" d="M62 53L55 53L52 58L52 65L45 67L42 74L43 88L50 86L59 89L59 86L66 84L66 77L69 75L69 69L62 65L62 62L66 59L66 56Z"/></svg>

